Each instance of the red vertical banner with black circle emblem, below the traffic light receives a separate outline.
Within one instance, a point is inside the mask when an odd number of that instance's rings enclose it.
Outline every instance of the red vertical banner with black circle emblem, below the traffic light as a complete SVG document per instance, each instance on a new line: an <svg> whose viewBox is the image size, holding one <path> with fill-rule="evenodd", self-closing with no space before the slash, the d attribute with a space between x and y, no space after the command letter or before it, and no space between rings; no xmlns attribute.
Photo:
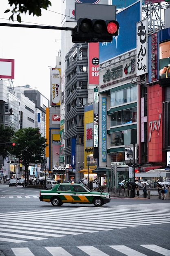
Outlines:
<svg viewBox="0 0 170 256"><path fill-rule="evenodd" d="M89 43L89 84L99 84L99 43Z"/></svg>

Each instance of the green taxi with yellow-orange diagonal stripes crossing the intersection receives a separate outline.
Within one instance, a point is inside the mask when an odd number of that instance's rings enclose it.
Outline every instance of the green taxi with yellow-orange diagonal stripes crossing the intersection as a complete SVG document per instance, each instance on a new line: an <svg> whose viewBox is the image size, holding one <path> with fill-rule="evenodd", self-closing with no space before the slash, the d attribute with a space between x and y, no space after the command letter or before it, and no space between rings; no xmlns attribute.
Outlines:
<svg viewBox="0 0 170 256"><path fill-rule="evenodd" d="M60 183L51 190L41 190L40 201L51 202L53 206L78 203L94 204L97 207L110 202L110 195L88 189L83 184Z"/></svg>

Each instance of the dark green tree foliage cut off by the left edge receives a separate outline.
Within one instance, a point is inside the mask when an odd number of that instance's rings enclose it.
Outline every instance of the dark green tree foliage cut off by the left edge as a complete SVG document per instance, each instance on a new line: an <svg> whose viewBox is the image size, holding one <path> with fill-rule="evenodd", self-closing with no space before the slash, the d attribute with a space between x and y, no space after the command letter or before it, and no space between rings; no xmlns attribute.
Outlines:
<svg viewBox="0 0 170 256"><path fill-rule="evenodd" d="M3 124L0 125L0 155L3 159L9 155L7 151L11 149L9 146L5 146L6 142L13 142L12 137L15 133L15 129L12 126L4 127Z"/></svg>

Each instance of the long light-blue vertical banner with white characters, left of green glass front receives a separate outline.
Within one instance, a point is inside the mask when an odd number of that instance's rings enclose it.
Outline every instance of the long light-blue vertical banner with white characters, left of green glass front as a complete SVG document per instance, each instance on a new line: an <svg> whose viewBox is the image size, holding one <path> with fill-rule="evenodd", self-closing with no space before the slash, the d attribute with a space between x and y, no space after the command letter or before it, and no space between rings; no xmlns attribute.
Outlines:
<svg viewBox="0 0 170 256"><path fill-rule="evenodd" d="M102 161L106 161L106 97L102 97Z"/></svg>

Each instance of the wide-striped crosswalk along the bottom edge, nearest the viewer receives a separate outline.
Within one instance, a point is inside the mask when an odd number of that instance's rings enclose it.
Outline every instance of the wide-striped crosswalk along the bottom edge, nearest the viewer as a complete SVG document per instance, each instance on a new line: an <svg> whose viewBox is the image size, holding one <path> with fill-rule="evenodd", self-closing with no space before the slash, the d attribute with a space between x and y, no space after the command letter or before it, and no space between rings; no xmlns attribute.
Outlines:
<svg viewBox="0 0 170 256"><path fill-rule="evenodd" d="M111 251L110 251L111 248ZM139 252L142 249L145 249L145 253ZM74 247L74 254L69 252L68 247L44 247L43 255L52 255L52 256L79 256L82 252L90 256L113 256L113 255L127 255L127 256L150 256L154 252L158 255L170 256L170 250L157 246L157 245L139 245L137 249L130 248L125 245L107 245L102 248L97 248L94 246L77 246ZM29 249L28 247L16 247L11 248L15 256L39 256L40 254L35 252L34 249ZM107 252L107 253L106 253ZM119 253L119 254L118 254ZM84 254L83 254L84 255Z"/></svg>

